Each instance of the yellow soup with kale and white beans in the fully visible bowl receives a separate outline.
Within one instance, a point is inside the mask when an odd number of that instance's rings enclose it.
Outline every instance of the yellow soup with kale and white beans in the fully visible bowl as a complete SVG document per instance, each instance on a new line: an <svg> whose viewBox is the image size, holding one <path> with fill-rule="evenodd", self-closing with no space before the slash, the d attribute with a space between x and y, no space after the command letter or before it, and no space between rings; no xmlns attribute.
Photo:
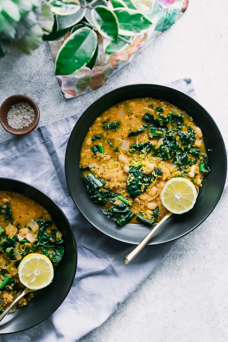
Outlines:
<svg viewBox="0 0 228 342"><path fill-rule="evenodd" d="M91 199L120 226L158 222L165 182L186 177L198 187L208 172L201 129L173 104L148 97L121 102L94 121L80 167Z"/></svg>

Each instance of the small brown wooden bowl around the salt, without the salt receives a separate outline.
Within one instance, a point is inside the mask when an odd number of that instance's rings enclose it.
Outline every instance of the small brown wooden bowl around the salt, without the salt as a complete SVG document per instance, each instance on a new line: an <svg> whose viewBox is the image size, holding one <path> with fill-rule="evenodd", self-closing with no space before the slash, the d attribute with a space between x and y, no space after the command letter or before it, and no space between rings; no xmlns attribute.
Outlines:
<svg viewBox="0 0 228 342"><path fill-rule="evenodd" d="M11 98L22 98L24 100L29 100L32 104L33 104L33 107L35 109L35 119L34 121L30 124L30 126L26 127L27 130L25 131L22 131L21 129L19 130L16 130L15 128L9 128L7 125L4 124L3 120L2 120L2 114L3 114L3 108L4 106L8 103L8 101L11 99ZM27 95L22 95L22 94L15 94L15 95L11 95L9 97L7 97L1 104L0 106L0 123L2 125L2 127L4 128L4 130L10 134L13 134L13 135L24 135L24 134L27 134L27 133L30 133L32 132L38 125L40 121L40 109L36 103L36 101L34 101L31 97L27 96Z"/></svg>

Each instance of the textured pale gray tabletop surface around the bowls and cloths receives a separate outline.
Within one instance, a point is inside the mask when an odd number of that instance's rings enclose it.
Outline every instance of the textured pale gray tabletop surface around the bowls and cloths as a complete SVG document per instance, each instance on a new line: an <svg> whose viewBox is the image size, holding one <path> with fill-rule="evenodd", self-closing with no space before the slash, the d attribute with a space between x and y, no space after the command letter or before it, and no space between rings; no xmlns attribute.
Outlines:
<svg viewBox="0 0 228 342"><path fill-rule="evenodd" d="M31 96L40 107L42 126L126 84L191 77L199 102L214 117L227 145L227 14L227 0L190 0L183 17L133 63L102 88L72 100L65 100L58 86L48 44L31 56L10 54L0 61L0 102L13 94ZM11 137L0 128L0 141ZM224 193L210 217L178 241L115 314L80 342L227 342L227 220Z"/></svg>

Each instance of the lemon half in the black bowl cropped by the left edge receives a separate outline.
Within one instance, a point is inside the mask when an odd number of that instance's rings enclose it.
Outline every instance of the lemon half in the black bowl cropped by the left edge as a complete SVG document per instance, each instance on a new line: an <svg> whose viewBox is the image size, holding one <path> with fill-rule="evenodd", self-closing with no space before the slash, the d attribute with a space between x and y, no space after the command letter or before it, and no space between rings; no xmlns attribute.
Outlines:
<svg viewBox="0 0 228 342"><path fill-rule="evenodd" d="M29 289L39 290L48 286L53 279L54 270L46 255L31 253L18 266L21 283Z"/></svg>

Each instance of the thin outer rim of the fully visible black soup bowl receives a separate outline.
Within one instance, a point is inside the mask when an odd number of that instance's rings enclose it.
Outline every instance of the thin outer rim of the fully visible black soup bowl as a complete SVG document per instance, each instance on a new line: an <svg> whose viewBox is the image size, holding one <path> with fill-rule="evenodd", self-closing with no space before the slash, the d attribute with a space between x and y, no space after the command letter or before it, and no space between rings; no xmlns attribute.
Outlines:
<svg viewBox="0 0 228 342"><path fill-rule="evenodd" d="M162 241L162 242L153 242L153 239L151 239L147 245L161 245L161 244L164 244L164 243L167 243L167 242L171 242L171 241L175 241L175 240L178 240L179 238L182 238L184 237L185 235L191 233L193 230L195 230L200 224L202 224L207 218L208 216L212 213L212 211L215 209L220 197L222 196L222 193L223 193L223 190L224 190L224 187L225 187L225 183L226 183L226 174L227 174L227 155L226 155L226 147L225 147L225 143L224 143L224 140L223 140L223 136L215 122L215 120L213 119L213 117L209 114L209 112L198 102L196 101L194 98L192 98L191 96L185 94L184 92L180 91L180 90L177 90L175 88L171 88L171 87L167 87L167 86L162 86L160 84L154 84L154 83L134 83L134 84L129 84L127 86L123 86L123 87L119 87L119 88L116 88L116 89L113 89L107 93L105 93L104 95L100 96L99 98L97 98L97 100L95 100L88 108L86 108L82 115L79 117L79 119L77 120L75 126L73 127L72 131L71 131L71 134L69 136L69 140L68 140L68 143L67 143L67 147L66 147L66 153L65 153L65 176L66 176L66 182L67 182L67 186L68 186L68 189L69 189L69 193L70 193L70 196L73 200L73 202L75 203L77 209L79 210L79 212L83 215L83 217L90 223L92 224L96 229L98 229L100 232L102 232L103 234L106 234L107 236L115 239L115 240L119 240L119 241L122 241L122 242L125 242L125 243L128 243L128 244L133 244L133 245L138 245L138 243L136 242L133 242L133 241L129 241L129 240L126 240L124 238L117 238L116 236L113 236L112 234L109 234L107 232L105 232L103 229L100 229L98 228L97 226L95 226L87 217L86 215L82 212L82 210L78 207L74 197L73 197L73 194L71 192L71 189L70 189L70 185L69 185L69 180L68 180L68 172L67 172L67 159L68 159L68 151L69 151L69 145L70 145L70 142L71 142L71 139L72 139L72 135L73 135L73 131L75 131L77 129L78 126L80 126L81 124L81 121L83 120L83 117L88 115L88 113L90 112L90 108L93 107L98 101L101 101L103 98L105 98L107 95L110 95L111 93L115 93L115 92L118 92L120 90L122 90L124 92L124 89L126 88L133 88L133 87L157 87L157 88L160 88L161 90L164 89L166 91L171 91L171 92L175 92L177 93L179 96L184 96L186 98L188 98L190 101L192 101L195 105L201 107L202 110L205 111L205 113L210 117L210 119L212 120L214 126L217 128L217 131L218 131L218 135L219 135L219 138L221 139L221 141L223 142L222 144L222 153L224 155L224 162L225 162L225 168L224 168L224 177L223 177L223 182L222 182L222 186L220 188L220 192L216 198L216 201L214 202L214 205L213 207L211 208L211 210L209 211L209 213L204 216L204 219L202 219L195 227L193 227L190 231L178 236L178 237L175 237L175 238L171 238L171 239L166 239L166 241ZM134 97L134 98L137 98L137 97ZM164 100L166 101L166 100ZM118 102L116 102L118 103ZM109 107L107 107L109 108ZM102 113L100 113L102 114ZM99 115L100 115L99 114ZM95 120L95 119L94 119ZM81 148L81 146L80 146ZM148 231L149 232L149 231Z"/></svg>

